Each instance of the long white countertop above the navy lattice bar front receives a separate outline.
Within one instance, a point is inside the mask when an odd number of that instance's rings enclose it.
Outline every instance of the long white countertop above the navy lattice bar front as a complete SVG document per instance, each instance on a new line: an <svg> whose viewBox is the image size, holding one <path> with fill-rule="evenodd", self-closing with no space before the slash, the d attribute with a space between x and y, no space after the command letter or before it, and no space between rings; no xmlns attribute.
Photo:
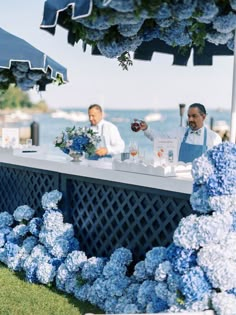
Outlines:
<svg viewBox="0 0 236 315"><path fill-rule="evenodd" d="M72 162L68 155L62 153L60 149L55 149L52 151L47 150L45 147L35 147L35 149L33 147L32 150L36 150L37 152L22 153L22 149L0 148L0 162L116 183L185 194L192 193L193 179L191 172L183 172L179 173L178 176L165 177L114 170L112 169L112 159Z"/></svg>

